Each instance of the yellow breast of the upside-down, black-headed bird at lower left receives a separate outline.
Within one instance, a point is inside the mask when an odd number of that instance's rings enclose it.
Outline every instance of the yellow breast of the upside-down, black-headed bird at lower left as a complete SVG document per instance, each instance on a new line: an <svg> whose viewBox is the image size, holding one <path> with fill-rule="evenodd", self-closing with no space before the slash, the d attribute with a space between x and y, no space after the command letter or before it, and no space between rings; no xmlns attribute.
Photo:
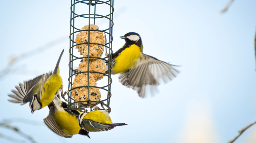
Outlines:
<svg viewBox="0 0 256 143"><path fill-rule="evenodd" d="M78 118L67 112L56 112L54 114L57 125L64 132L75 135L78 134L81 127L78 124Z"/></svg>

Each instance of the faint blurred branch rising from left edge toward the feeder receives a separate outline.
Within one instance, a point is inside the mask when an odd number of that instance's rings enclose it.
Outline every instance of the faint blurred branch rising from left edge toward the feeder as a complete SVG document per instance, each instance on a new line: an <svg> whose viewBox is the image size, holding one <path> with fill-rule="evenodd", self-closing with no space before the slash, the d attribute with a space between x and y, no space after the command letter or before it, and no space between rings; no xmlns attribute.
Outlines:
<svg viewBox="0 0 256 143"><path fill-rule="evenodd" d="M0 79L1 79L3 76L5 76L5 75L7 75L8 73L10 73L11 67L12 67L16 62L18 62L18 61L20 61L20 60L22 60L22 59L25 59L25 58L27 58L27 57L34 56L34 55L36 55L36 54L39 54L40 52L45 51L45 50L49 49L50 47L53 47L53 46L55 46L55 45L57 45L57 44L60 44L60 43L62 43L66 38L67 38L67 36L61 37L61 38L59 38L59 39L57 39L57 40L53 40L53 41L51 41L51 42L49 42L49 43L47 43L47 44L45 44L45 45L43 45L43 46L41 46L41 47L35 48L35 49L33 49L33 50L29 51L29 52L23 53L23 54L21 54L21 55L19 55L19 56L14 56L14 57L12 57L12 58L10 59L8 65L7 65L4 69L2 69L2 70L0 71Z"/></svg>

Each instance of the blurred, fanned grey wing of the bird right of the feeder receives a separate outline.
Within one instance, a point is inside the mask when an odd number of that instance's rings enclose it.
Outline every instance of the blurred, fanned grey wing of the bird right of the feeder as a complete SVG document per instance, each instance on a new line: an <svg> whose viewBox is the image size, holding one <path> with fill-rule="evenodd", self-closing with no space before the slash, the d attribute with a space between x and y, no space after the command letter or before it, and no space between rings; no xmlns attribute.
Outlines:
<svg viewBox="0 0 256 143"><path fill-rule="evenodd" d="M118 78L122 85L137 90L140 97L145 97L145 88L149 85L151 92L162 79L165 83L174 79L179 71L175 65L143 54L136 67L121 73Z"/></svg>

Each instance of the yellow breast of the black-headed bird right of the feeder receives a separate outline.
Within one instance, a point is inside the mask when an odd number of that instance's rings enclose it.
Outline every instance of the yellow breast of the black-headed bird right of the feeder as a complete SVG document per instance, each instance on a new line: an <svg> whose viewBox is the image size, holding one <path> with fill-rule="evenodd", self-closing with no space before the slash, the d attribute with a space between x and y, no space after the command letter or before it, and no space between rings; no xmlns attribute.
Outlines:
<svg viewBox="0 0 256 143"><path fill-rule="evenodd" d="M141 54L140 47L133 44L125 48L116 58L116 63L113 67L114 73L126 72L136 65L137 59Z"/></svg>

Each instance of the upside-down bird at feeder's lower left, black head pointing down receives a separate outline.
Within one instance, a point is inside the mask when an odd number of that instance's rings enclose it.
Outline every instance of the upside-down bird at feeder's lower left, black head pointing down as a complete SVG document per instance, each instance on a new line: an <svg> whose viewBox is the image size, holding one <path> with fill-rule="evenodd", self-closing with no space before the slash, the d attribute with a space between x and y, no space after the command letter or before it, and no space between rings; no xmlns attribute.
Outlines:
<svg viewBox="0 0 256 143"><path fill-rule="evenodd" d="M78 124L78 118L68 113L68 104L61 101L58 96L48 105L49 115L44 119L45 124L57 135L71 138L75 134L86 135L90 138L87 131L81 129ZM75 114L80 114L77 110L72 110Z"/></svg>

